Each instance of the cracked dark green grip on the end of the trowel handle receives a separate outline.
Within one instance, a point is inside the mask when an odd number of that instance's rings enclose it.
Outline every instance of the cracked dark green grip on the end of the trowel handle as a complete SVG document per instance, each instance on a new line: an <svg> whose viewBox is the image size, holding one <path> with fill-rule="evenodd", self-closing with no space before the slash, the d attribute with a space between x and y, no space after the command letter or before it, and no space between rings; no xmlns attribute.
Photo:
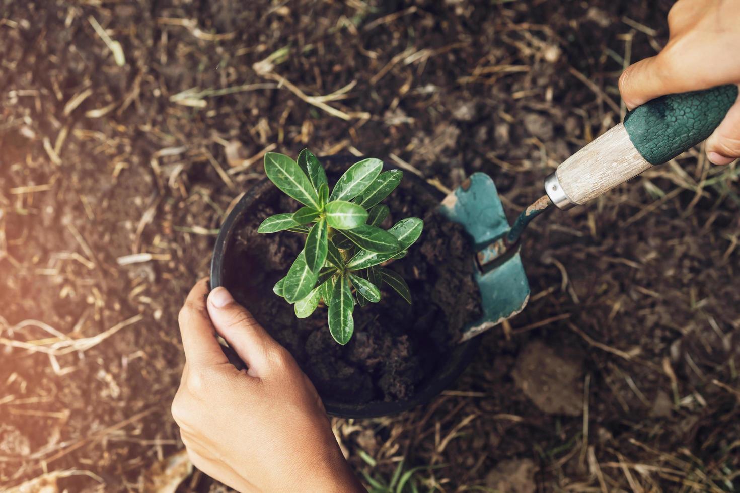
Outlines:
<svg viewBox="0 0 740 493"><path fill-rule="evenodd" d="M712 135L738 98L738 86L669 94L637 106L625 129L650 164L662 164Z"/></svg>

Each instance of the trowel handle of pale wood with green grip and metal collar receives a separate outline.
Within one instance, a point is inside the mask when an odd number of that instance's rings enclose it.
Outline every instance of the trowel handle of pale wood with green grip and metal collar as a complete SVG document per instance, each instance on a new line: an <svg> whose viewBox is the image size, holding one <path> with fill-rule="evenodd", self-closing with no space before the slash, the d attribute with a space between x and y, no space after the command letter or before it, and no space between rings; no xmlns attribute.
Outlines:
<svg viewBox="0 0 740 493"><path fill-rule="evenodd" d="M561 209L585 204L702 142L737 98L738 86L728 84L648 101L562 163L545 191Z"/></svg>

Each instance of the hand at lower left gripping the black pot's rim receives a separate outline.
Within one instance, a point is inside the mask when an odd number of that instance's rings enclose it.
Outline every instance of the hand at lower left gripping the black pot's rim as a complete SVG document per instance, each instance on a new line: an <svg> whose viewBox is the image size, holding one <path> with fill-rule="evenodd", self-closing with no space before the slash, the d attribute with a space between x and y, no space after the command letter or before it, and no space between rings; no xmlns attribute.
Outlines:
<svg viewBox="0 0 740 493"><path fill-rule="evenodd" d="M225 288L198 282L179 323L186 364L172 416L198 469L240 492L365 492L311 381ZM217 333L249 370L229 363Z"/></svg>

